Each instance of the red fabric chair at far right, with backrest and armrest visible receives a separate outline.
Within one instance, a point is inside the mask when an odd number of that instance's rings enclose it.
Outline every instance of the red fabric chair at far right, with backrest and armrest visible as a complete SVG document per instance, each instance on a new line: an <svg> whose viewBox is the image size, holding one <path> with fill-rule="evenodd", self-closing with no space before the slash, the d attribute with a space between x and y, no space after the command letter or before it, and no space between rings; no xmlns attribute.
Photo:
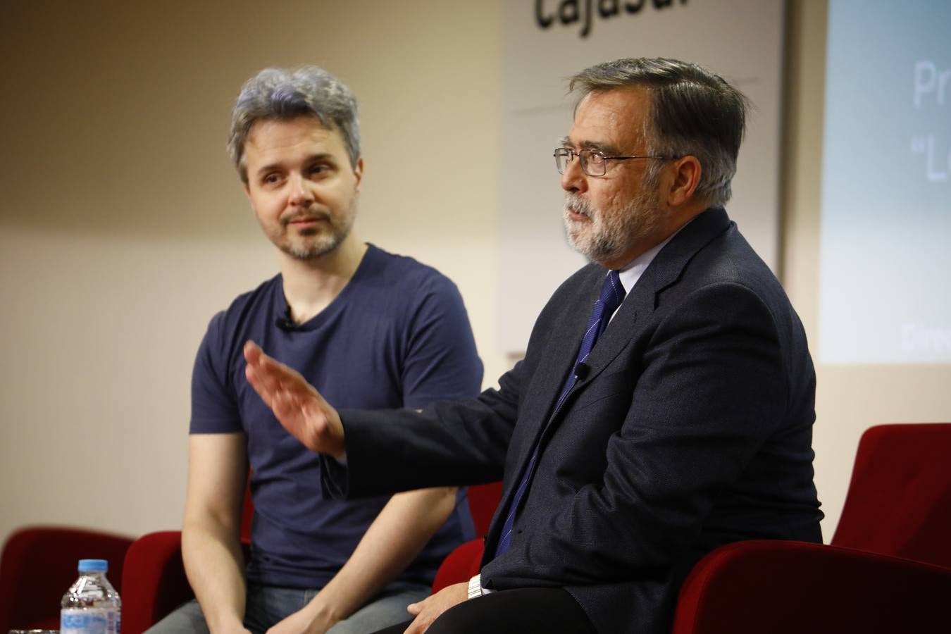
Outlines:
<svg viewBox="0 0 951 634"><path fill-rule="evenodd" d="M832 545L738 542L681 588L673 634L951 631L951 424L866 431Z"/></svg>

